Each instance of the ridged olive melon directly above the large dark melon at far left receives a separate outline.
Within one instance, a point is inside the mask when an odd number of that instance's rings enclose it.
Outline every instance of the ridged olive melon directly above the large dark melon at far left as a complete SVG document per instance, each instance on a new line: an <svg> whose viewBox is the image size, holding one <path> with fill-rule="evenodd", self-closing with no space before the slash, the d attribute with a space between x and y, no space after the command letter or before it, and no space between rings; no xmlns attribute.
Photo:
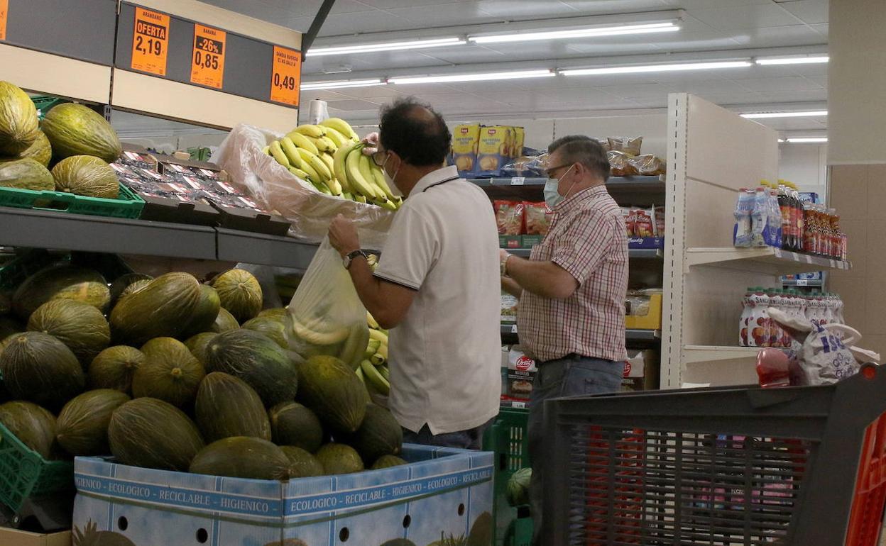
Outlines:
<svg viewBox="0 0 886 546"><path fill-rule="evenodd" d="M102 311L74 300L50 300L37 307L27 321L27 329L55 336L84 366L111 342L111 328Z"/></svg>

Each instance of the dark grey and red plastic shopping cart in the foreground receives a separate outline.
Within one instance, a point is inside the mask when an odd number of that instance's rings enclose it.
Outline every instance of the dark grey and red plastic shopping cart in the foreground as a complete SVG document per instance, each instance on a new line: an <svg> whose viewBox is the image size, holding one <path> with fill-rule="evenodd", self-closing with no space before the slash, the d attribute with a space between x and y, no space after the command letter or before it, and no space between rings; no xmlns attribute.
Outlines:
<svg viewBox="0 0 886 546"><path fill-rule="evenodd" d="M544 544L878 546L886 368L545 404Z"/></svg>

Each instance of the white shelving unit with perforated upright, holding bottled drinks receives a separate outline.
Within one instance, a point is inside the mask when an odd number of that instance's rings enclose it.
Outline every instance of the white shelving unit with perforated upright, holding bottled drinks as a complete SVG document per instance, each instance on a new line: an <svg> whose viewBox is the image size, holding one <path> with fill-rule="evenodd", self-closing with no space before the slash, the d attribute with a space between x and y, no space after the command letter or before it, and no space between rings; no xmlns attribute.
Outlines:
<svg viewBox="0 0 886 546"><path fill-rule="evenodd" d="M661 388L756 383L758 350L738 347L745 288L851 263L779 249L735 249L740 188L778 178L778 135L685 93L668 100Z"/></svg>

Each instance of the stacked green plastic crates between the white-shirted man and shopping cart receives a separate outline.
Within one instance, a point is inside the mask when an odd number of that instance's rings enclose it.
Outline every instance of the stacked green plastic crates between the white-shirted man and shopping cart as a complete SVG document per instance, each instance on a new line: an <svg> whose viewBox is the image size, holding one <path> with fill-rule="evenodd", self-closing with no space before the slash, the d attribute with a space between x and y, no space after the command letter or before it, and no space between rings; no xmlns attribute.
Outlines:
<svg viewBox="0 0 886 546"><path fill-rule="evenodd" d="M529 411L501 408L493 426L483 434L483 449L495 453L494 511L496 546L522 546L532 542L532 519L520 518L508 504L507 488L517 470L529 467ZM529 523L528 536L525 527Z"/></svg>

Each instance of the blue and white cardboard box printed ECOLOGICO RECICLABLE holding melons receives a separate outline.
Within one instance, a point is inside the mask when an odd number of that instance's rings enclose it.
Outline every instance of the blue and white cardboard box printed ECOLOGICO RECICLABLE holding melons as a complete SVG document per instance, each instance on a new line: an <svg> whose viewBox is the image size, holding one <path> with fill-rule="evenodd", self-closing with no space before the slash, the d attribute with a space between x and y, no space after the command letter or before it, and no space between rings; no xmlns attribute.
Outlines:
<svg viewBox="0 0 886 546"><path fill-rule="evenodd" d="M76 458L74 534L118 534L129 541L120 544L134 546L377 546L392 539L427 546L469 535L483 544L489 536L491 544L492 453L407 444L403 458L410 464L291 481Z"/></svg>

